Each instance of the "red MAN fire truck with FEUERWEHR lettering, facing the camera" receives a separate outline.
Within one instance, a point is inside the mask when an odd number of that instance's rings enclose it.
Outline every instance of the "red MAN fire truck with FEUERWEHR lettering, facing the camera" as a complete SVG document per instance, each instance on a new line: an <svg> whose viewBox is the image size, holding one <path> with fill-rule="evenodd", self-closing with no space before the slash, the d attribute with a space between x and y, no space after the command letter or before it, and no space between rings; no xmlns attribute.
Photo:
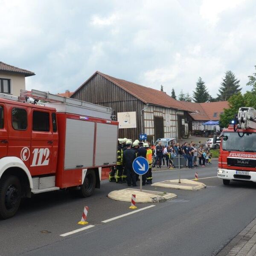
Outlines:
<svg viewBox="0 0 256 256"><path fill-rule="evenodd" d="M239 108L235 120L220 137L218 178L224 185L229 185L230 180L256 182L256 110Z"/></svg>

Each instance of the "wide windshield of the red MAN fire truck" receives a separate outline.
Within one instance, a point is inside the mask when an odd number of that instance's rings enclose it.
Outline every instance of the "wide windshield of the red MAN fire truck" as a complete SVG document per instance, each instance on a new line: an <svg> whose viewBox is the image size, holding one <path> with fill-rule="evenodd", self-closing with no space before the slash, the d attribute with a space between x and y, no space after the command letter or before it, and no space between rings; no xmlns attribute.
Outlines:
<svg viewBox="0 0 256 256"><path fill-rule="evenodd" d="M222 149L226 151L256 152L256 133L239 137L236 132L224 132Z"/></svg>

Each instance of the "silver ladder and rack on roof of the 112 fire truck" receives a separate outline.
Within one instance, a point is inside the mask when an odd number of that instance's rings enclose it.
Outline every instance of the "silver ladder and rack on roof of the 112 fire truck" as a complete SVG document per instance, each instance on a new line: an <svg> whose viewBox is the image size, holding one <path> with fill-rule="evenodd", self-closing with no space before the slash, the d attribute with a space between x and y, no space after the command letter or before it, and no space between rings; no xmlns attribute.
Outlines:
<svg viewBox="0 0 256 256"><path fill-rule="evenodd" d="M31 97L37 101L43 100L47 102L45 106L56 108L56 111L60 113L73 113L109 120L113 118L111 108L84 102L79 99L71 99L39 90L20 90L20 96L20 99Z"/></svg>

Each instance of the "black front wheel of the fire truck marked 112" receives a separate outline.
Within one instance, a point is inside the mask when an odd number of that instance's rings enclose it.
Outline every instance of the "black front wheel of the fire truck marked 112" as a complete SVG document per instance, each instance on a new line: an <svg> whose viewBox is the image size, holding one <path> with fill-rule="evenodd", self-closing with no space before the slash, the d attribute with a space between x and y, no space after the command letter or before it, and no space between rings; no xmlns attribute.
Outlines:
<svg viewBox="0 0 256 256"><path fill-rule="evenodd" d="M20 180L14 176L2 177L0 181L0 218L11 218L20 206Z"/></svg>

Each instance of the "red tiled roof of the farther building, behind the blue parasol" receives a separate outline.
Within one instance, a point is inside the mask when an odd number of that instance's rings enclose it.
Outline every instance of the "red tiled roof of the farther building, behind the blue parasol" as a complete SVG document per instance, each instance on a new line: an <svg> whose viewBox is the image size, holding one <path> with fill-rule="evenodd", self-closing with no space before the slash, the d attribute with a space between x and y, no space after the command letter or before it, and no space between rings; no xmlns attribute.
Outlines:
<svg viewBox="0 0 256 256"><path fill-rule="evenodd" d="M183 104L193 110L193 113L189 113L189 115L194 120L201 121L219 120L224 108L229 108L227 101L204 103L183 102Z"/></svg>

